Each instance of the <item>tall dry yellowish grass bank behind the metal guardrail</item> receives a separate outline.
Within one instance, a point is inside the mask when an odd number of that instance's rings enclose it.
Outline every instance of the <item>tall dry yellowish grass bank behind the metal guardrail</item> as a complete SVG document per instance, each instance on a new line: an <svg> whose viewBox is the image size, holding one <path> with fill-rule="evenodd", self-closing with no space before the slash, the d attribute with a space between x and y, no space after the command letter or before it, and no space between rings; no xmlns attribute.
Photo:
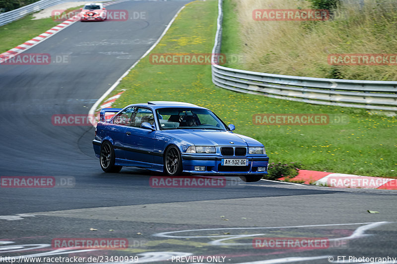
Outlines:
<svg viewBox="0 0 397 264"><path fill-rule="evenodd" d="M327 21L256 21L254 9L310 8L305 0L224 0L224 39L244 57L240 69L274 74L397 81L396 64L331 65L328 55L397 52L397 1L341 1ZM230 13L230 11L233 11ZM235 21L229 23L229 19ZM238 27L237 27L238 25ZM237 30L234 30L234 29ZM232 33L232 34L230 34ZM236 37L240 40L236 40ZM242 45L243 44L243 45ZM230 46L229 46L230 45Z"/></svg>

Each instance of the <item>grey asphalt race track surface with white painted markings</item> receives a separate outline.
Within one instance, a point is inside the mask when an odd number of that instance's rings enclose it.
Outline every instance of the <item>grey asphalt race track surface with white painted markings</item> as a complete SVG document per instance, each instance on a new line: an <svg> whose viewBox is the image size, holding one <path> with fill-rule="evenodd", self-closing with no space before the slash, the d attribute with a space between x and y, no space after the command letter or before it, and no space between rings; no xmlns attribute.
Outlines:
<svg viewBox="0 0 397 264"><path fill-rule="evenodd" d="M396 258L393 191L245 184L239 179L229 179L224 188L152 188L152 175L143 170L106 174L100 169L92 127L52 124L54 114L87 114L187 2L111 5L108 9L145 11L147 16L77 22L27 51L66 55L67 63L0 66L0 175L73 180L69 187L0 188L0 257L137 256L139 263L178 263L172 256L204 256L203 263L231 264ZM264 236L325 237L334 248L255 249L253 237ZM65 237L127 238L130 248L54 251L52 240Z"/></svg>

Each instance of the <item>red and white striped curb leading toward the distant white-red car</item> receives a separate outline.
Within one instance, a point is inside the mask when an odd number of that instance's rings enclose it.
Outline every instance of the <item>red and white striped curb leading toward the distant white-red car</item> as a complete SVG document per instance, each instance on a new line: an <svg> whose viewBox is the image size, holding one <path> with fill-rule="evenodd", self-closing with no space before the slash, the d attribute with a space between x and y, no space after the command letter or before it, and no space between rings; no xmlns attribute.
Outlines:
<svg viewBox="0 0 397 264"><path fill-rule="evenodd" d="M103 4L103 6L108 6L111 4L115 4L115 3L119 3L119 2L123 2L125 0L117 0L117 1L111 1L111 2L106 2ZM67 20L65 20L64 22L62 22L59 25L56 25L55 27L47 30L46 32L40 34L39 36L19 45L16 46L15 48L6 51L4 53L0 54L0 63L7 61L8 59L16 56L19 53L25 52L27 50L29 50L30 48L32 48L33 46L36 46L37 44L45 41L46 39L48 39L49 37L55 35L56 33L60 32L61 30L65 29L66 27L70 26L71 24L79 21L80 18L78 15L75 15Z"/></svg>

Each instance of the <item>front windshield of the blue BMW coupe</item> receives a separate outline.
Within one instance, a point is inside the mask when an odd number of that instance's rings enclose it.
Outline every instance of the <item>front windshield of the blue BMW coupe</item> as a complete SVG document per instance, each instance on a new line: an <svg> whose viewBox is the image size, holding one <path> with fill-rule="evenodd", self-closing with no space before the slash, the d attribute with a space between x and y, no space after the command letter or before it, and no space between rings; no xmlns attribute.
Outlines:
<svg viewBox="0 0 397 264"><path fill-rule="evenodd" d="M160 129L226 130L225 124L213 112L197 108L157 109Z"/></svg>

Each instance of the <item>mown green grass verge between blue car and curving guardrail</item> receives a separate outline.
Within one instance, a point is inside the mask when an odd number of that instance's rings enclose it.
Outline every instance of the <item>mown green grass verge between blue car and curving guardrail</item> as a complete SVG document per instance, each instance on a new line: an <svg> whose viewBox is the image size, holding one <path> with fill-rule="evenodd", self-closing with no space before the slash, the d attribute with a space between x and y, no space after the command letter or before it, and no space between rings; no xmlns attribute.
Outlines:
<svg viewBox="0 0 397 264"><path fill-rule="evenodd" d="M188 4L152 53L211 53L216 5L216 0ZM228 43L224 45L228 47ZM153 65L149 56L132 69L109 97L122 89L126 92L114 107L147 101L182 101L208 107L227 124L234 123L236 133L261 141L270 162L302 161L305 169L397 177L396 117L369 115L362 109L235 93L212 84L209 65ZM252 122L256 113L347 114L350 122L324 126L260 126Z"/></svg>

